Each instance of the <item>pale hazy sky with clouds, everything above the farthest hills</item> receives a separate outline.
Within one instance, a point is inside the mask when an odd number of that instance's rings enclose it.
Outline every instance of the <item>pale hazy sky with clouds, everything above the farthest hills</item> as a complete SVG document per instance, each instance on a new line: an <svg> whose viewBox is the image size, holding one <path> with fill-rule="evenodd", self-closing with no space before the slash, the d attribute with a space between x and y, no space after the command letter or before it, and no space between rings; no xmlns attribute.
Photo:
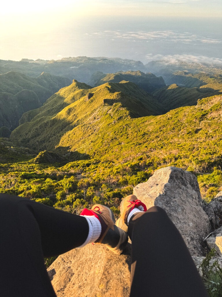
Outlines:
<svg viewBox="0 0 222 297"><path fill-rule="evenodd" d="M221 0L4 1L0 59L222 61ZM192 58L193 57L193 58Z"/></svg>

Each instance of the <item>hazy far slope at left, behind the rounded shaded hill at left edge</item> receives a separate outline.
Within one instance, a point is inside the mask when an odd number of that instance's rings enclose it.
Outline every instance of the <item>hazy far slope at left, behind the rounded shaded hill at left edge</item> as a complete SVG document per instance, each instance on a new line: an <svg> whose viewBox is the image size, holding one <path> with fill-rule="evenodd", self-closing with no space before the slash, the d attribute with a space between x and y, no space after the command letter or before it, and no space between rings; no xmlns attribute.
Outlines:
<svg viewBox="0 0 222 297"><path fill-rule="evenodd" d="M68 78L58 77L44 72L36 78L16 71L0 74L1 92L15 95L19 91L27 89L35 92L41 103L44 103L52 94L70 83L71 81Z"/></svg>

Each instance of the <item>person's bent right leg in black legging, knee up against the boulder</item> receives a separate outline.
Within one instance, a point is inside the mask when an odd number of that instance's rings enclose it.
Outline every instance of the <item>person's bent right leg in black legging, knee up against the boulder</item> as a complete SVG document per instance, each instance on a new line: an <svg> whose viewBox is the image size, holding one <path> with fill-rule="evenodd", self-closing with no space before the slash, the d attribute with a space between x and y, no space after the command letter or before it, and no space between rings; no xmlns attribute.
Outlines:
<svg viewBox="0 0 222 297"><path fill-rule="evenodd" d="M154 206L128 222L130 297L207 297L192 257L166 212Z"/></svg>

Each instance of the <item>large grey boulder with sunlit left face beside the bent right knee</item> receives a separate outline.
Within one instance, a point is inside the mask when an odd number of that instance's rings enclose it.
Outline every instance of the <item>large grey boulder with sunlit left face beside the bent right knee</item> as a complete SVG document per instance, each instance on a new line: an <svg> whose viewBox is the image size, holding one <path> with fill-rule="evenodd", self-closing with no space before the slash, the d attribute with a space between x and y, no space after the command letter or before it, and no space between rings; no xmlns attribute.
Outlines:
<svg viewBox="0 0 222 297"><path fill-rule="evenodd" d="M176 167L156 170L133 194L147 208L162 207L180 231L192 256L206 254L203 239L211 232L210 221L203 210L196 176Z"/></svg>

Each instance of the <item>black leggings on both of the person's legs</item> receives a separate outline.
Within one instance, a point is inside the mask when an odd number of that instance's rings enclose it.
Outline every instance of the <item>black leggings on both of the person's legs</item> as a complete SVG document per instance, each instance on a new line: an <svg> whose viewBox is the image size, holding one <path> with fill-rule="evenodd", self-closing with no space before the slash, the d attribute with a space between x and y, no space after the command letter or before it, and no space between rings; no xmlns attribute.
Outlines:
<svg viewBox="0 0 222 297"><path fill-rule="evenodd" d="M84 243L86 219L31 200L0 194L1 297L55 297L44 257ZM162 208L131 219L131 297L207 297L178 230Z"/></svg>

